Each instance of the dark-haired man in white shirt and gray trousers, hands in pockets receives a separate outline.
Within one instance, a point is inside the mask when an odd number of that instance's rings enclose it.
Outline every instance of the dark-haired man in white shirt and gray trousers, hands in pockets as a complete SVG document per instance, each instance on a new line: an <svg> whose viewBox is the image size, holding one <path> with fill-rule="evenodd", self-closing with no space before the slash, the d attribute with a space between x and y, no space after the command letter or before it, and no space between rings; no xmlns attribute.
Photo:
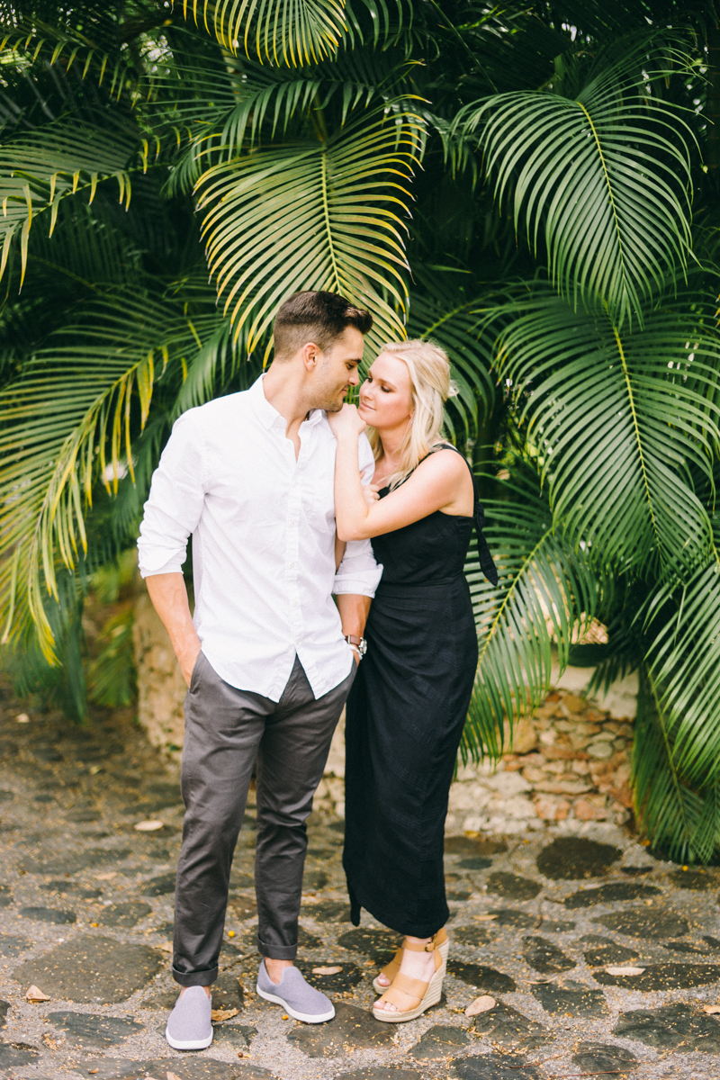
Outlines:
<svg viewBox="0 0 720 1080"><path fill-rule="evenodd" d="M337 294L289 297L267 374L180 417L145 505L140 572L189 688L173 957L184 989L165 1032L178 1050L213 1039L209 987L256 760L258 994L307 1023L335 1015L293 960L304 823L382 572L368 541L349 543L336 572L336 442L323 411L357 384L371 325ZM365 436L361 461L369 483ZM192 619L181 573L191 534Z"/></svg>

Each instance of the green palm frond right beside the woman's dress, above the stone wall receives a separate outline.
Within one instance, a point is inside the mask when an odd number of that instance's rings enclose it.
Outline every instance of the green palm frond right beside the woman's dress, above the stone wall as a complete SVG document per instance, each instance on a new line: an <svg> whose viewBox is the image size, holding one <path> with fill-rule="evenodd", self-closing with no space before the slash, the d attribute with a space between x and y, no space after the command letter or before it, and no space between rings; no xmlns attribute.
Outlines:
<svg viewBox="0 0 720 1080"><path fill-rule="evenodd" d="M608 584L582 551L556 528L538 482L520 473L502 487L505 500L485 501L485 534L498 567L493 588L477 564L475 541L465 566L479 661L461 746L463 761L500 757L505 718L511 730L551 686L553 651L568 663L573 631L589 623Z"/></svg>

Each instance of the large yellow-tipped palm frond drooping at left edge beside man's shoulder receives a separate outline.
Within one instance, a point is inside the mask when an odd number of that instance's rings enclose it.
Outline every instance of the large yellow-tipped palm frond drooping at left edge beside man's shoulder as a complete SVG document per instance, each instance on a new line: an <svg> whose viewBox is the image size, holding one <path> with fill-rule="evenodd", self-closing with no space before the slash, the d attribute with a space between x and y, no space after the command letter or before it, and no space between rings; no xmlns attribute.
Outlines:
<svg viewBox="0 0 720 1080"><path fill-rule="evenodd" d="M208 326L217 323L213 316ZM84 508L99 478L108 489L127 469L153 386L173 362L194 355L200 321L181 305L118 289L68 326L0 393L0 618L3 639L29 620L53 658L44 598L57 598L56 566L86 550ZM68 343L63 343L63 339ZM52 402L52 408L47 403Z"/></svg>

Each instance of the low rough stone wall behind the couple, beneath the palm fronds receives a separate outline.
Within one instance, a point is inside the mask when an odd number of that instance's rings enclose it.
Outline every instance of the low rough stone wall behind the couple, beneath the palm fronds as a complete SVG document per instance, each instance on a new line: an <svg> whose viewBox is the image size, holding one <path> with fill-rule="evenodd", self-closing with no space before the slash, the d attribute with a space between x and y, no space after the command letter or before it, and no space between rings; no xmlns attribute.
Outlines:
<svg viewBox="0 0 720 1080"><path fill-rule="evenodd" d="M154 746L182 747L186 685L149 597L135 609L138 720ZM498 767L461 766L450 789L447 832L514 834L562 822L626 824L633 805L629 748L637 683L628 677L601 698L587 697L589 669L555 672L555 690L516 730ZM315 808L344 813L344 714L332 740Z"/></svg>

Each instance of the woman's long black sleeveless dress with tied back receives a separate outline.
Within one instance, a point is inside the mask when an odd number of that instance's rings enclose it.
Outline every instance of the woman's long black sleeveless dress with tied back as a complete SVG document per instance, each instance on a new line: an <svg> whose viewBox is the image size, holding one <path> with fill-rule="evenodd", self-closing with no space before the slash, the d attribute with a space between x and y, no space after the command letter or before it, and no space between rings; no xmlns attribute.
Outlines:
<svg viewBox="0 0 720 1080"><path fill-rule="evenodd" d="M355 926L361 907L415 937L448 919L445 818L477 669L463 573L476 524L480 565L497 583L476 489L473 517L436 511L372 540L384 569L345 720L343 867Z"/></svg>

